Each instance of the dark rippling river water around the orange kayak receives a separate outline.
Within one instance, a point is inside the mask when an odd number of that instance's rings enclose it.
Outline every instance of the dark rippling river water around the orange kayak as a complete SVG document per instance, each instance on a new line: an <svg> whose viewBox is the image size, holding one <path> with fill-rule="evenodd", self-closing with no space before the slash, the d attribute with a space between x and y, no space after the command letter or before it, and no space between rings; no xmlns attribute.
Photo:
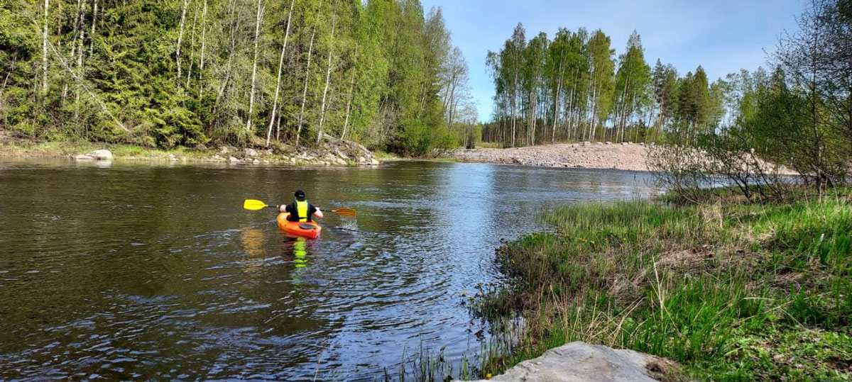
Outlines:
<svg viewBox="0 0 852 382"><path fill-rule="evenodd" d="M647 197L648 174L0 160L0 379L380 379L420 346L473 358L459 294L560 204ZM245 198L325 210L286 237ZM487 331L484 331L486 333ZM395 378L395 377L394 377Z"/></svg>

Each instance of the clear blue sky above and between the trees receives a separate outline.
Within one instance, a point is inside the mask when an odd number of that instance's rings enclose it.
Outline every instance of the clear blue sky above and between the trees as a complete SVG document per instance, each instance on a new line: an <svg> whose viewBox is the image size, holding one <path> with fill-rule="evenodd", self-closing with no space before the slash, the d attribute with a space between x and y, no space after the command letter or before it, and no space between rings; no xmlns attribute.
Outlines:
<svg viewBox="0 0 852 382"><path fill-rule="evenodd" d="M648 65L659 58L683 75L703 66L715 81L728 73L766 66L784 31L797 30L803 0L421 0L423 9L443 9L452 43L469 66L469 85L483 122L492 119L494 85L486 72L489 50L497 51L521 22L527 40L560 27L600 28L622 54L634 30L642 37Z"/></svg>

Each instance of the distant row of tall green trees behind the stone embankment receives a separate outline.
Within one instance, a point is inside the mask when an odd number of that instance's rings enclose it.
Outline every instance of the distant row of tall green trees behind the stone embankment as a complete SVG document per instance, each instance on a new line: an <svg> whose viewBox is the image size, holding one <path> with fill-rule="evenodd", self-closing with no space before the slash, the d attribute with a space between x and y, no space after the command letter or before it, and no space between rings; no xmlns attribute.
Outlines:
<svg viewBox="0 0 852 382"><path fill-rule="evenodd" d="M708 83L701 66L684 77L659 60L648 66L636 31L617 60L601 30L561 28L553 40L542 32L529 41L525 33L519 24L486 59L496 94L485 140L658 140L671 121L697 134L724 115L724 81Z"/></svg>

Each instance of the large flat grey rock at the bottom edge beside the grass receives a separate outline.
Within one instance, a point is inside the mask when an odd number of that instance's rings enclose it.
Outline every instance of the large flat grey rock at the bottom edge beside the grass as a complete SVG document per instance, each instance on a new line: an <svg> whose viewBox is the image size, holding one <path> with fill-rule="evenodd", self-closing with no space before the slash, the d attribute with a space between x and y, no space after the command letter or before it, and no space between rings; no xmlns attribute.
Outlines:
<svg viewBox="0 0 852 382"><path fill-rule="evenodd" d="M663 379L674 362L638 351L572 342L515 365L492 381L654 381ZM485 382L481 379L480 382Z"/></svg>

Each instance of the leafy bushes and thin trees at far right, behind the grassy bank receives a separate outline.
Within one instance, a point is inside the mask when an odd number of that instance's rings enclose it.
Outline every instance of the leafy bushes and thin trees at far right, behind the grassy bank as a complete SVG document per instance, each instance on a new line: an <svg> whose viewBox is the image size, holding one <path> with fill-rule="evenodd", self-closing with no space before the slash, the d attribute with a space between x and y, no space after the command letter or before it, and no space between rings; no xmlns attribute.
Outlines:
<svg viewBox="0 0 852 382"><path fill-rule="evenodd" d="M709 128L677 119L667 126L649 164L680 197L695 202L706 195L701 187L721 180L747 199L778 200L792 180L820 194L847 180L852 2L813 0L797 20L799 30L780 37L771 74L742 71L711 86Z"/></svg>

